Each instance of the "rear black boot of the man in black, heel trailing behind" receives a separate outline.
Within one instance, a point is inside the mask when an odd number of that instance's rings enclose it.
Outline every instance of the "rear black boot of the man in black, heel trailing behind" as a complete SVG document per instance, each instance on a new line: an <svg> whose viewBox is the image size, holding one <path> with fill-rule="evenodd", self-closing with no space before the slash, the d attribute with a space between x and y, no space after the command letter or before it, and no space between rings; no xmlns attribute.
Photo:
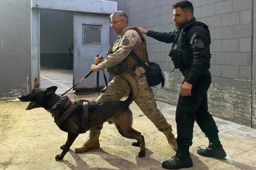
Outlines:
<svg viewBox="0 0 256 170"><path fill-rule="evenodd" d="M216 159L225 159L227 156L225 150L223 150L222 145L213 145L212 143L205 149L198 149L197 153L204 157L214 157Z"/></svg>

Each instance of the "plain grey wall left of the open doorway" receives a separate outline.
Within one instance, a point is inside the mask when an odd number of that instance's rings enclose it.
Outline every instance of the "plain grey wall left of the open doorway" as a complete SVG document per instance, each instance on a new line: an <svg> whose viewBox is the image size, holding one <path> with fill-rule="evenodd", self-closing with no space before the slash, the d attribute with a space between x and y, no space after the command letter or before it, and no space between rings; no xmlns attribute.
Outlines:
<svg viewBox="0 0 256 170"><path fill-rule="evenodd" d="M0 16L0 97L18 96L29 89L30 1L0 0Z"/></svg>

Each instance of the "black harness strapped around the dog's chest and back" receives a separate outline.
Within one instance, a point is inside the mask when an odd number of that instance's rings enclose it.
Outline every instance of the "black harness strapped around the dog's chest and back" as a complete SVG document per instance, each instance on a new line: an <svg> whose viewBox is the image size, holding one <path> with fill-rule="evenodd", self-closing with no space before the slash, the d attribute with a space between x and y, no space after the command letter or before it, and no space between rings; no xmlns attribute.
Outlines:
<svg viewBox="0 0 256 170"><path fill-rule="evenodd" d="M79 111L75 111L77 106L83 105L83 120L80 127L80 133L85 133L86 125L88 124L89 108L90 111L93 111L97 108L97 106L100 106L101 104L102 103L97 102L90 103L87 100L81 100L77 101L76 103L72 103L67 96L63 96L48 111L52 114L52 117L54 117L55 124L58 125L58 127L61 129L61 125L68 117L79 114ZM63 129L61 130L64 131Z"/></svg>

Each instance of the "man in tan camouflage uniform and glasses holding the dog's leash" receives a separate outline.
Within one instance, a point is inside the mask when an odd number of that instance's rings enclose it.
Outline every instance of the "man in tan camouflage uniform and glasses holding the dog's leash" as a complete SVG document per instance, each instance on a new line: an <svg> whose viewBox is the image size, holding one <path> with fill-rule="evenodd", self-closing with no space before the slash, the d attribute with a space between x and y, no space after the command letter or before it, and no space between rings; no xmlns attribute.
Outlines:
<svg viewBox="0 0 256 170"><path fill-rule="evenodd" d="M110 15L110 24L115 34L120 36L114 45L109 47L108 56L105 60L101 57L95 57L95 63L98 65L92 65L90 71L108 68L109 73L113 74L114 78L109 82L106 91L100 94L96 101L119 101L122 97L129 94L130 87L127 81L120 76L120 73L123 71L131 73L138 83L139 92L138 96L134 99L135 103L138 104L141 111L151 122L156 125L157 129L164 133L173 150L177 151L177 142L172 134L172 127L157 109L152 89L147 82L145 70L130 55L130 52L134 50L144 62L148 62L145 39L137 31L128 27L128 17L124 11L112 13ZM83 153L90 149L99 148L100 129L102 129L102 126L91 129L88 141L81 148L76 148L75 151Z"/></svg>

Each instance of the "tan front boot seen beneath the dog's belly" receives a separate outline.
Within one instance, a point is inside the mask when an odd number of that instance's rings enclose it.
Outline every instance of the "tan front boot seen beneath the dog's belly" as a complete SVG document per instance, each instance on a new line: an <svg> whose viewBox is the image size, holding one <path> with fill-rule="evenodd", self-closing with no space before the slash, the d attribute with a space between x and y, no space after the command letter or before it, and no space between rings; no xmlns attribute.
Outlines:
<svg viewBox="0 0 256 170"><path fill-rule="evenodd" d="M99 136L100 136L100 130L97 129L97 131L95 132L92 129L90 131L88 140L85 143L83 143L83 145L80 148L75 148L75 152L84 153L84 152L88 152L88 150L100 148Z"/></svg>

